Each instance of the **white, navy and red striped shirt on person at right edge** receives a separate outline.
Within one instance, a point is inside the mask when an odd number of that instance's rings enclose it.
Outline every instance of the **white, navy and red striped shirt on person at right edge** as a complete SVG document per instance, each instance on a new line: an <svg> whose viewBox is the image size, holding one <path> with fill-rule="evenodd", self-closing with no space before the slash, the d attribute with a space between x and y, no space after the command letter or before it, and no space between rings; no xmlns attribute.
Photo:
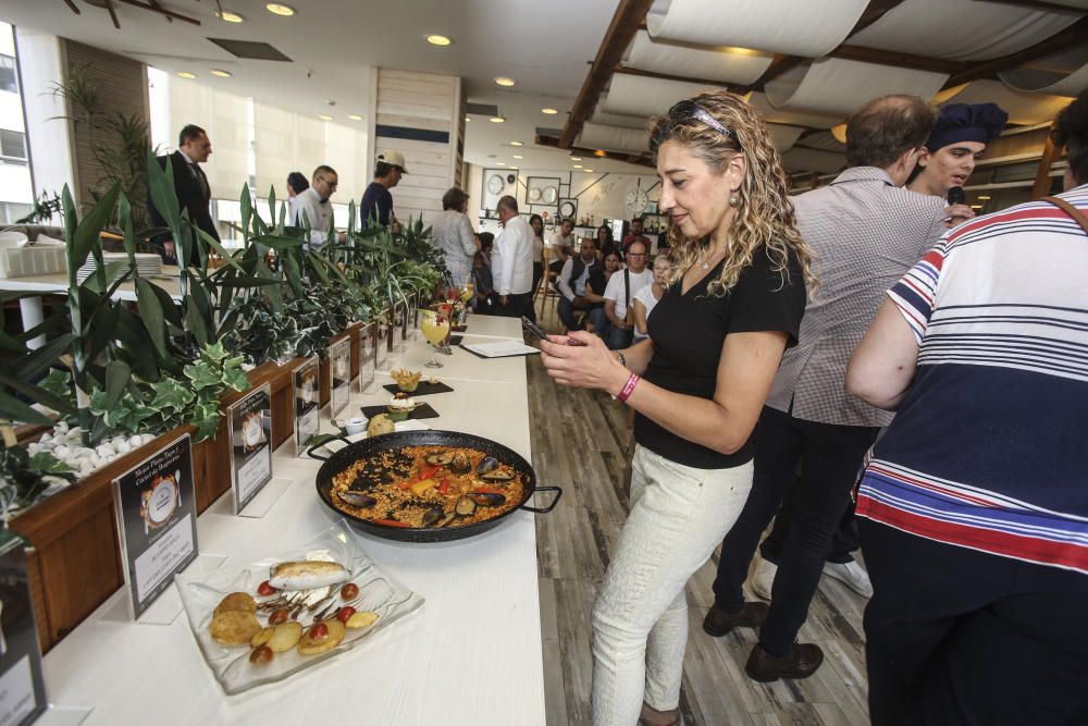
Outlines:
<svg viewBox="0 0 1088 726"><path fill-rule="evenodd" d="M1061 196L1088 211L1088 185ZM918 368L857 514L1088 574L1088 236L1019 205L951 231L888 294Z"/></svg>

